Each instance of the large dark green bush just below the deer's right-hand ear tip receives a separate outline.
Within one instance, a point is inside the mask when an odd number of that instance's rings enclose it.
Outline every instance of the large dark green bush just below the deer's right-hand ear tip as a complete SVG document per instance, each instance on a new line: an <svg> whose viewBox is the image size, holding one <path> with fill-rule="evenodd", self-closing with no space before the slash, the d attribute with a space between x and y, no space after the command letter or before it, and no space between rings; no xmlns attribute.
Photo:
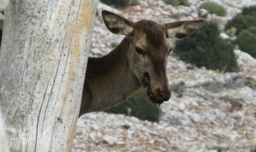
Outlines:
<svg viewBox="0 0 256 152"><path fill-rule="evenodd" d="M218 23L207 21L189 37L177 41L174 52L181 60L198 67L238 72L233 46L221 39L219 34Z"/></svg>

